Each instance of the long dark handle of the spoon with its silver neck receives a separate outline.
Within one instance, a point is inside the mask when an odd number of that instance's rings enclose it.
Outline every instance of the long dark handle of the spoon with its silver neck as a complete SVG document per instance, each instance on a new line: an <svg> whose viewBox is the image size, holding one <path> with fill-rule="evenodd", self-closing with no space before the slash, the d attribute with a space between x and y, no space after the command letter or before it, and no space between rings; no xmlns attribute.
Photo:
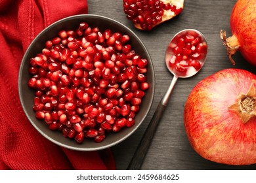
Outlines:
<svg viewBox="0 0 256 183"><path fill-rule="evenodd" d="M177 79L177 76L173 77L173 80L167 92L165 93L163 99L161 99L161 102L156 108L156 111L152 117L152 120L150 121L150 124L148 124L148 127L146 128L146 131L144 132L144 135L140 140L139 146L137 147L137 150L135 151L135 154L133 155L133 158L131 159L131 162L129 163L127 170L138 170L142 166L146 153L148 152L148 148L152 142L154 134L156 133L156 129L160 122L161 116L163 116L163 112L166 108L167 101L171 95L171 92L173 91L173 87L175 86Z"/></svg>

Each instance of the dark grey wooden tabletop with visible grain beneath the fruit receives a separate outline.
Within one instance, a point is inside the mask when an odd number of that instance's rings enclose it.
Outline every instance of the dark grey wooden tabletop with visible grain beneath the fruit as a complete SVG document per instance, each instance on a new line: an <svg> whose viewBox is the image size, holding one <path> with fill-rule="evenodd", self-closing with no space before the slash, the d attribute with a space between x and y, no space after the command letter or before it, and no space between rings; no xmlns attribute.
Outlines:
<svg viewBox="0 0 256 183"><path fill-rule="evenodd" d="M156 93L152 108L139 129L128 139L112 148L117 169L126 169L139 144L139 141L163 97L173 76L165 67L165 48L171 37L182 29L198 29L208 43L207 61L198 75L179 79L161 118L152 144L146 154L142 169L256 169L256 165L228 166L213 163L201 158L190 146L183 125L183 110L192 88L203 78L222 69L240 68L256 74L256 68L246 63L241 54L234 56L233 66L219 37L220 29L230 32L230 14L236 0L185 0L182 13L152 31L140 31L133 27L123 12L121 0L88 0L89 13L113 18L131 28L144 42L154 63Z"/></svg>

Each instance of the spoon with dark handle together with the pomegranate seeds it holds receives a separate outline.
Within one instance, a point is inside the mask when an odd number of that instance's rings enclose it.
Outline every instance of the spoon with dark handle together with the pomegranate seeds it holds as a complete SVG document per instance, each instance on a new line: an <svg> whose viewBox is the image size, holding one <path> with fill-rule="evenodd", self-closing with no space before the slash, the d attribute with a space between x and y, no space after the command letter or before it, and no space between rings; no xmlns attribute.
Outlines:
<svg viewBox="0 0 256 183"><path fill-rule="evenodd" d="M173 80L156 108L127 169L140 169L178 78L196 75L205 63L206 54L207 43L200 31L184 29L171 39L165 52L165 63L173 73Z"/></svg>

